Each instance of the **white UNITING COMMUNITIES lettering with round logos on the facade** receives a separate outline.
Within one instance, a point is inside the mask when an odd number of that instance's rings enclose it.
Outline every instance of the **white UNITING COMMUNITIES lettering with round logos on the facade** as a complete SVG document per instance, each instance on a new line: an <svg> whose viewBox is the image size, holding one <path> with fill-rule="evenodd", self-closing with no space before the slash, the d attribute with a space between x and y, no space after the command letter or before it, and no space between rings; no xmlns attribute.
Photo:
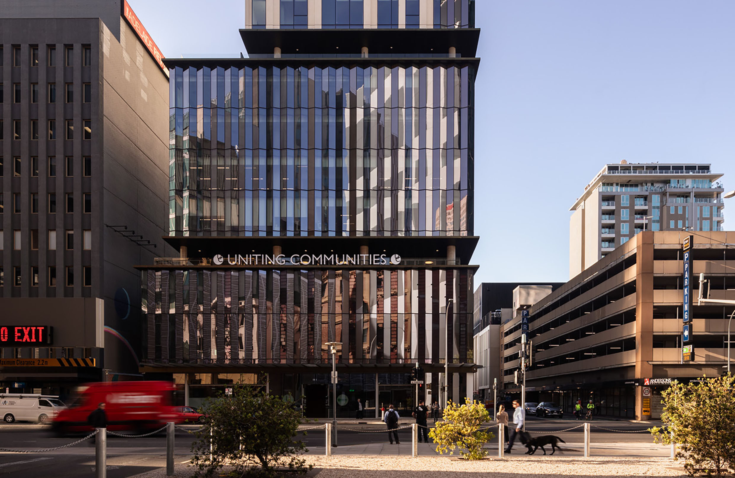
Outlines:
<svg viewBox="0 0 735 478"><path fill-rule="evenodd" d="M212 257L215 265L399 265L398 254L245 254Z"/></svg>

